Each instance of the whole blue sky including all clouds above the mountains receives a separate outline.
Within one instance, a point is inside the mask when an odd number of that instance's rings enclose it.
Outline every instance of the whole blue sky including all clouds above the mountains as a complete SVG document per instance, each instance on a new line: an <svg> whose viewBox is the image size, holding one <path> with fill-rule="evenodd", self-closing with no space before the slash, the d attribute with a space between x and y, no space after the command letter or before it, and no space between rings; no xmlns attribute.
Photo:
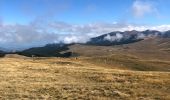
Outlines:
<svg viewBox="0 0 170 100"><path fill-rule="evenodd" d="M0 47L87 42L112 31L170 30L170 0L0 0Z"/></svg>

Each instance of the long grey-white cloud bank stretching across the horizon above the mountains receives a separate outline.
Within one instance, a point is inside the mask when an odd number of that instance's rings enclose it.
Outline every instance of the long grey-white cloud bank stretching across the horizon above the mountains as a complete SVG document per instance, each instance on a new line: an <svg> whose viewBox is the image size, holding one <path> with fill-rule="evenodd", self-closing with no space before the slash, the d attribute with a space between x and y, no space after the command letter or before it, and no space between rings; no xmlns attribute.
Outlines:
<svg viewBox="0 0 170 100"><path fill-rule="evenodd" d="M29 25L0 25L0 44L8 48L39 46L47 43L85 43L90 38L112 31L131 30L158 30L167 31L170 25L142 26L120 23L92 23L86 25L53 22L43 27L36 24ZM121 37L119 34L118 37ZM109 38L109 36L108 36Z"/></svg>

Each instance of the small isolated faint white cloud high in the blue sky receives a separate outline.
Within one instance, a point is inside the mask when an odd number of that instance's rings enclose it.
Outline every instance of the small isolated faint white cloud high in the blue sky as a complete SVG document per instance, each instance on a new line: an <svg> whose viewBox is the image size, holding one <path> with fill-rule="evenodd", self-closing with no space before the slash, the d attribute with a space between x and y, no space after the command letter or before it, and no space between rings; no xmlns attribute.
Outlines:
<svg viewBox="0 0 170 100"><path fill-rule="evenodd" d="M155 13L156 7L151 2L145 0L136 0L132 5L133 15L135 17L143 17L146 14Z"/></svg>

